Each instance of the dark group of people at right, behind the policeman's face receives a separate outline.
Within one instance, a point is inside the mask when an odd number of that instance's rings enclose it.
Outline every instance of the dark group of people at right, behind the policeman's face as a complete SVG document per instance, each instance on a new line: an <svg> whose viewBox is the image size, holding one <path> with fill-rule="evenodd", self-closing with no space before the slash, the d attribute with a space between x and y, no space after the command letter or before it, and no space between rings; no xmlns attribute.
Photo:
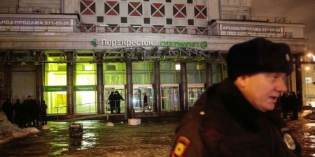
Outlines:
<svg viewBox="0 0 315 157"><path fill-rule="evenodd" d="M302 105L301 96L296 95L294 91L284 93L279 97L277 105L281 107L283 119L288 119L288 115L292 115L290 119L297 120L299 107Z"/></svg>

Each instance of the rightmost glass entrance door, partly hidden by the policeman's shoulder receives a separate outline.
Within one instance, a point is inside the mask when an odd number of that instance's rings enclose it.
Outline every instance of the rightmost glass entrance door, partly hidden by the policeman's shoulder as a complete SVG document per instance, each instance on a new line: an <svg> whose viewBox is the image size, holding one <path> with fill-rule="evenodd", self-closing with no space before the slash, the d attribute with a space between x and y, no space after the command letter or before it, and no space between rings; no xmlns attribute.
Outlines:
<svg viewBox="0 0 315 157"><path fill-rule="evenodd" d="M204 84L187 84L188 108L195 106L196 101L204 93Z"/></svg>

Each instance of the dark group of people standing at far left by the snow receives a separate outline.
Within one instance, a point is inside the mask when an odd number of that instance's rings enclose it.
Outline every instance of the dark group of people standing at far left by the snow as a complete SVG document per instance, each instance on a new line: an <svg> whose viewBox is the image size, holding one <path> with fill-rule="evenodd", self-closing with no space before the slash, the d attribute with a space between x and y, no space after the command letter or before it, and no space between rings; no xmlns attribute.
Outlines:
<svg viewBox="0 0 315 157"><path fill-rule="evenodd" d="M27 96L23 103L17 99L12 104L10 98L7 98L6 102L1 105L1 110L6 114L8 121L17 124L20 128L39 126L39 117L41 117L42 125L47 124L45 100L38 103L37 100L31 99L31 96Z"/></svg>

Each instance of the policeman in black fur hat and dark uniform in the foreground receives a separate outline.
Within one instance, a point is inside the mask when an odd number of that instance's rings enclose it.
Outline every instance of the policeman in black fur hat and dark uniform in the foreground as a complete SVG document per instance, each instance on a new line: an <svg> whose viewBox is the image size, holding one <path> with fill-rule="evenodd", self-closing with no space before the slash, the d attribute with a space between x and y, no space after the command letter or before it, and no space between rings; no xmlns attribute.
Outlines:
<svg viewBox="0 0 315 157"><path fill-rule="evenodd" d="M183 117L171 156L301 156L275 110L293 70L288 45L254 38L233 45L226 62L229 77L209 87Z"/></svg>

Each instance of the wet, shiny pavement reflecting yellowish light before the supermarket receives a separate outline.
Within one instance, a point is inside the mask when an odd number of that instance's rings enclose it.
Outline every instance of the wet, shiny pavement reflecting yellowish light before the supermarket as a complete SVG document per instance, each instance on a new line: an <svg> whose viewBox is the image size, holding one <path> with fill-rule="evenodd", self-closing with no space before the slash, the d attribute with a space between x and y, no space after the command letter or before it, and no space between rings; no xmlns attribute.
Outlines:
<svg viewBox="0 0 315 157"><path fill-rule="evenodd" d="M178 122L146 121L141 126L126 122L106 126L107 121L76 121L83 124L83 137L70 138L70 122L49 121L41 130L0 147L0 156L169 156ZM304 157L315 156L315 121L288 121Z"/></svg>

